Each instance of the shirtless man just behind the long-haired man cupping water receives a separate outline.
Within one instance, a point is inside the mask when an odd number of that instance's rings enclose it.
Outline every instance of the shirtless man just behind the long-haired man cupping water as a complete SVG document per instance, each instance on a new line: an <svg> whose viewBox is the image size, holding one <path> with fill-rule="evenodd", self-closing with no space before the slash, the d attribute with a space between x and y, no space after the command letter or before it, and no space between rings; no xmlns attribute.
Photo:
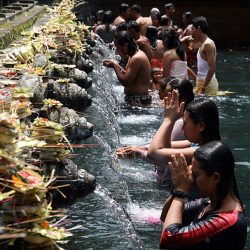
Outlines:
<svg viewBox="0 0 250 250"><path fill-rule="evenodd" d="M151 51L151 44L146 36L142 36L140 34L140 25L136 21L130 21L127 25L128 34L132 36L139 49L142 50L146 56L148 57L149 62L152 59L152 51Z"/></svg>

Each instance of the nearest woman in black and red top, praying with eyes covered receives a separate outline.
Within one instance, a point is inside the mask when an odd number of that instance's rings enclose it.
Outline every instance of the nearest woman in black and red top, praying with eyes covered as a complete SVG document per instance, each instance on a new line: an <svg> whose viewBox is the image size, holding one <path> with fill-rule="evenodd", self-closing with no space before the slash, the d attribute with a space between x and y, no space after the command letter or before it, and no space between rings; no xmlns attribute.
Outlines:
<svg viewBox="0 0 250 250"><path fill-rule="evenodd" d="M192 166L182 154L169 165L175 189L163 207L160 247L243 250L247 223L231 150L213 141L195 151ZM185 204L193 185L201 198Z"/></svg>

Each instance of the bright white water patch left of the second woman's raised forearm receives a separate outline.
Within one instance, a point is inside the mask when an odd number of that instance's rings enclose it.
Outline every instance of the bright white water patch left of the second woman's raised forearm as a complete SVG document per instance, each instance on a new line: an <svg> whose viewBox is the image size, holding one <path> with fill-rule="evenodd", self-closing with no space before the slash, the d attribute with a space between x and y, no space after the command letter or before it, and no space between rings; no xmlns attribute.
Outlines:
<svg viewBox="0 0 250 250"><path fill-rule="evenodd" d="M119 118L120 124L150 124L155 123L158 120L157 116L154 115L128 115Z"/></svg>

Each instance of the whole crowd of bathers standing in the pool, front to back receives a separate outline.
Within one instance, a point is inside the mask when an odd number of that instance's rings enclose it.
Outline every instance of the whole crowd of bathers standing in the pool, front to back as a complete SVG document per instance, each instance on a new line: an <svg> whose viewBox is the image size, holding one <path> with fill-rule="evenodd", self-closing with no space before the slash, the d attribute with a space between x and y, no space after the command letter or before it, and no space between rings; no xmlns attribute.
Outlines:
<svg viewBox="0 0 250 250"><path fill-rule="evenodd" d="M149 145L118 148L118 157L141 157L156 166L159 183L171 181L161 214L164 249L243 250L247 222L235 178L235 160L222 142L217 105L216 46L203 16L183 14L174 22L175 6L165 13L120 5L98 11L95 33L114 46L120 60L105 59L124 87L130 105L151 103L158 90L164 118ZM193 84L194 83L194 84ZM190 196L190 194L192 194Z"/></svg>

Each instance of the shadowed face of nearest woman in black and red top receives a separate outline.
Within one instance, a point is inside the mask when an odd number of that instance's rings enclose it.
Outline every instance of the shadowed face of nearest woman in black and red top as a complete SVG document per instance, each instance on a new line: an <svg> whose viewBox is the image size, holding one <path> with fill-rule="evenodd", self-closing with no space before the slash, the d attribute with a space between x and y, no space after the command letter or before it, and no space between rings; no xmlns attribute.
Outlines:
<svg viewBox="0 0 250 250"><path fill-rule="evenodd" d="M208 175L200 168L195 158L192 159L192 173L199 197L212 197L216 193L218 181L216 174Z"/></svg>

